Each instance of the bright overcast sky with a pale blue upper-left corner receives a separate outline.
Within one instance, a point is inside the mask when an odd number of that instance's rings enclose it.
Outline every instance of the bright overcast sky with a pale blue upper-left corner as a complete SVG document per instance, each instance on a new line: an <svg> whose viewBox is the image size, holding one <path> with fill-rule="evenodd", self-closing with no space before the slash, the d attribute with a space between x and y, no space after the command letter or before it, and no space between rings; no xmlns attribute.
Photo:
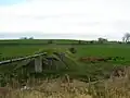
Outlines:
<svg viewBox="0 0 130 98"><path fill-rule="evenodd" d="M0 38L121 40L129 11L130 0L0 0Z"/></svg>

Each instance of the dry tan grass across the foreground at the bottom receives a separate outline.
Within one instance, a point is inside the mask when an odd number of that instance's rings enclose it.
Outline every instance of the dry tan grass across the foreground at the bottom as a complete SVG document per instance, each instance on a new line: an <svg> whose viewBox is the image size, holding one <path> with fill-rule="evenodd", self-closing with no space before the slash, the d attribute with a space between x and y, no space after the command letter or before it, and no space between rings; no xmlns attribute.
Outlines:
<svg viewBox="0 0 130 98"><path fill-rule="evenodd" d="M130 98L130 81L118 77L95 83L61 78L39 82L28 90L12 90L5 98Z"/></svg>

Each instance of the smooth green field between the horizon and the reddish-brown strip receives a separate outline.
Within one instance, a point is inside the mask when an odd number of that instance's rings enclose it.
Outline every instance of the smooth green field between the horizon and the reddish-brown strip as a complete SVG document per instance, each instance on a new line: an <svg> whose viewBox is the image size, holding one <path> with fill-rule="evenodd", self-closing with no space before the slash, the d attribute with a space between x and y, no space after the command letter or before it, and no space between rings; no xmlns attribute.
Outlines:
<svg viewBox="0 0 130 98"><path fill-rule="evenodd" d="M18 44L18 45L13 45ZM39 45L41 44L41 45ZM60 45L58 45L60 44ZM67 45L66 45L67 44ZM74 44L74 45L73 45ZM75 45L76 44L76 45ZM123 57L126 61L130 60L130 46L107 44L107 45L78 45L77 40L54 40L54 44L48 45L48 40L0 40L1 58L17 58L32 54L40 49L46 48L70 48L77 49L77 57Z"/></svg>

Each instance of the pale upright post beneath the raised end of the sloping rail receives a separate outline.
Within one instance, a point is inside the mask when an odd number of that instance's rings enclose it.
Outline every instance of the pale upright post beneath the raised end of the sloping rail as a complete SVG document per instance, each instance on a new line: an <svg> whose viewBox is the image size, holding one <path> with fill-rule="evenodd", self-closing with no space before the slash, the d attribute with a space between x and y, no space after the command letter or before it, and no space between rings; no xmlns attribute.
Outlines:
<svg viewBox="0 0 130 98"><path fill-rule="evenodd" d="M35 71L36 73L42 72L42 57L41 56L35 58Z"/></svg>

